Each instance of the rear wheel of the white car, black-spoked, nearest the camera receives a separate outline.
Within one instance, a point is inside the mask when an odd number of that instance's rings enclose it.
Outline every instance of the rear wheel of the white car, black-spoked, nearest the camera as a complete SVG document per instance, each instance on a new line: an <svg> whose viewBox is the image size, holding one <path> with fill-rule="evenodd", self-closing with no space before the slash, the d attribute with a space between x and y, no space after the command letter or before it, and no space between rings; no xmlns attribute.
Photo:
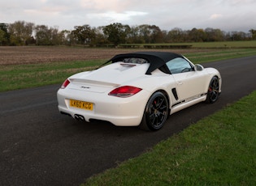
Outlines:
<svg viewBox="0 0 256 186"><path fill-rule="evenodd" d="M145 106L141 129L156 131L163 127L167 120L169 104L162 92L155 92Z"/></svg>

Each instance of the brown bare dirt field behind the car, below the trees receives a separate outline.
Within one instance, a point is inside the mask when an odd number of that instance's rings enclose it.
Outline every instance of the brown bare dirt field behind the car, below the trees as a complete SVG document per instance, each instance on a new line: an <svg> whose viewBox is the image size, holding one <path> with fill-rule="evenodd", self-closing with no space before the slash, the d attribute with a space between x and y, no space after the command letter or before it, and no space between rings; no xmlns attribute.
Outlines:
<svg viewBox="0 0 256 186"><path fill-rule="evenodd" d="M19 65L57 61L85 61L108 59L118 53L131 53L143 49L87 49L75 47L0 47L0 65ZM150 51L150 49L146 49ZM155 49L154 49L155 50ZM175 53L193 52L194 49L158 49Z"/></svg>

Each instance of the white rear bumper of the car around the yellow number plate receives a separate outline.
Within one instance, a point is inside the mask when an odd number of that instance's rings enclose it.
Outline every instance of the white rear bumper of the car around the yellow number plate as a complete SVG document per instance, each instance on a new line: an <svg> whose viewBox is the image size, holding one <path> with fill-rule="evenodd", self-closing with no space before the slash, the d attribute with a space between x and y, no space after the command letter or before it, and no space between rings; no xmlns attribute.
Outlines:
<svg viewBox="0 0 256 186"><path fill-rule="evenodd" d="M81 97L80 92L77 94L76 91L69 91L68 95L61 89L58 91L59 112L72 116L75 119L82 116L87 122L92 119L106 120L116 126L140 125L145 104L150 97L148 91L141 91L137 95L128 98L102 94L95 95L95 93L92 95L87 93L86 97ZM70 95L72 95L72 98ZM70 105L70 99L93 103L93 110L74 108Z"/></svg>

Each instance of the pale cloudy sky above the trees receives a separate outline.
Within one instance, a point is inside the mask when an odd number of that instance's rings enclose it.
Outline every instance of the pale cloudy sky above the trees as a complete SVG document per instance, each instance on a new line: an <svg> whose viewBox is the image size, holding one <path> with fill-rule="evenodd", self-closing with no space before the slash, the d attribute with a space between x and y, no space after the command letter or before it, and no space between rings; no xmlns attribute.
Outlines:
<svg viewBox="0 0 256 186"><path fill-rule="evenodd" d="M194 27L226 32L256 29L256 0L0 0L0 23L25 21L73 30L122 23L170 31Z"/></svg>

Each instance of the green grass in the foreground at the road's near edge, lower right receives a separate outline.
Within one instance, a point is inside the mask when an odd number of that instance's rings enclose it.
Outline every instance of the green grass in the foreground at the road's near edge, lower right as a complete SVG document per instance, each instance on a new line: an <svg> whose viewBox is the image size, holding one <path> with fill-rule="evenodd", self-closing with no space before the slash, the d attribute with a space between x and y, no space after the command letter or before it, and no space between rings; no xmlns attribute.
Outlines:
<svg viewBox="0 0 256 186"><path fill-rule="evenodd" d="M256 91L82 185L255 185Z"/></svg>

